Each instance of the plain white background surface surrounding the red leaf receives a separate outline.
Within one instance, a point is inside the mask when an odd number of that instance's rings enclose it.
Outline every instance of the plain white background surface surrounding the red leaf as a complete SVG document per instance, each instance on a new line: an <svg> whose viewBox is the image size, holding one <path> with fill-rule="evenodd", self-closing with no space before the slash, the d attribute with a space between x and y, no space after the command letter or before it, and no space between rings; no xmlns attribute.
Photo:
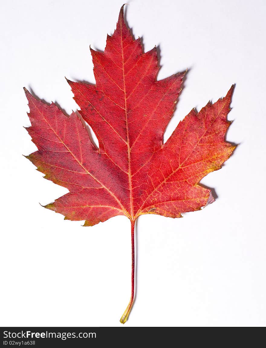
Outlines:
<svg viewBox="0 0 266 348"><path fill-rule="evenodd" d="M126 19L158 79L189 68L166 134L193 107L235 83L227 140L240 143L202 183L216 202L183 219L137 222L137 296L128 322L130 222L64 221L47 204L67 192L22 154L36 150L25 86L67 113L64 79L94 81L89 45L104 49L121 0L5 1L1 5L1 325L265 326L264 0L130 1Z"/></svg>

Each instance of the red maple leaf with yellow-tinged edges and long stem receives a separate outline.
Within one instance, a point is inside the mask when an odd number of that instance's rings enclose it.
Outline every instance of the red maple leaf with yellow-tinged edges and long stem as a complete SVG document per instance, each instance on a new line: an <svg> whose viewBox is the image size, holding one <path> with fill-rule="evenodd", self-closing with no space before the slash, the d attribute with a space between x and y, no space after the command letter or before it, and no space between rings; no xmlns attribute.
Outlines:
<svg viewBox="0 0 266 348"><path fill-rule="evenodd" d="M226 97L192 111L162 143L180 92L183 73L157 81L156 48L143 53L123 19L121 7L105 51L91 49L96 85L69 85L82 118L92 127L99 150L73 112L65 116L52 103L36 100L26 89L31 127L38 151L27 156L45 178L69 193L45 207L68 220L93 226L116 215L131 221L131 298L134 301L134 224L139 215L181 217L214 201L198 182L221 168L235 146L225 142L233 86Z"/></svg>

